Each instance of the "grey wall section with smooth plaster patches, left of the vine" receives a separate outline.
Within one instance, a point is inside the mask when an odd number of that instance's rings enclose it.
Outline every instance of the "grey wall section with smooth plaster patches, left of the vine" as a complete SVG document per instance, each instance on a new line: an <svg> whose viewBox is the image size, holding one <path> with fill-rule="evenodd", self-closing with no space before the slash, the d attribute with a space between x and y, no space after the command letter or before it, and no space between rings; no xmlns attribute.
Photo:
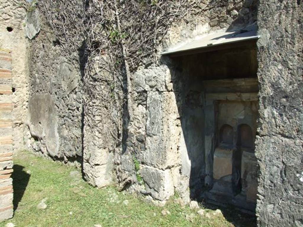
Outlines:
<svg viewBox="0 0 303 227"><path fill-rule="evenodd" d="M26 15L30 84L27 145L53 159L81 165L82 93L78 65L62 56L60 45L38 11ZM34 38L35 37L35 38ZM73 53L79 58L79 53Z"/></svg>

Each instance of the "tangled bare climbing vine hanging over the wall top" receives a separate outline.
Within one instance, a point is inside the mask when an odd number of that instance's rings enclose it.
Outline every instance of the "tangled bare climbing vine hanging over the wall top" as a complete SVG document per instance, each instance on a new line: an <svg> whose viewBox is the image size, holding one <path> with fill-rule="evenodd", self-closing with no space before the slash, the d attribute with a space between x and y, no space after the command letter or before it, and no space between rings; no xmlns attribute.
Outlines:
<svg viewBox="0 0 303 227"><path fill-rule="evenodd" d="M125 106L131 118L131 73L157 62L157 47L173 23L205 14L214 1L39 0L35 5L62 54L82 72L84 112L91 128L111 119L116 146L122 140Z"/></svg>

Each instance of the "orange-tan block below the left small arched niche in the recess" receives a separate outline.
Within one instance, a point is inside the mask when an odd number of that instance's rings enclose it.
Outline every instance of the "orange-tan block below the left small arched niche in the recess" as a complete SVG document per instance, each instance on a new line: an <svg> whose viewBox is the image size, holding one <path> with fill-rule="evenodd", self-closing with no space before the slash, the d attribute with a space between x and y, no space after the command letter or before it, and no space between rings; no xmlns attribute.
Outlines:
<svg viewBox="0 0 303 227"><path fill-rule="evenodd" d="M216 148L214 153L213 178L220 179L221 177L232 174L232 154L231 149Z"/></svg>

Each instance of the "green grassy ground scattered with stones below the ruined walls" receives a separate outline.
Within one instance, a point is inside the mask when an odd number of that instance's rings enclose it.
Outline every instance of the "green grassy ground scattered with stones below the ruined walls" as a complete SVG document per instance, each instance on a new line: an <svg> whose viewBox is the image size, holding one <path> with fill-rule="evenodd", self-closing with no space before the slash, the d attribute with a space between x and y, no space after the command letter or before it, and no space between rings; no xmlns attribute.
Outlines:
<svg viewBox="0 0 303 227"><path fill-rule="evenodd" d="M54 163L23 151L14 157L14 206L12 222L22 226L253 226L254 220L223 212L202 217L188 206L181 208L173 199L165 207L156 207L115 187L97 189L89 186L73 167ZM72 172L72 174L71 174ZM47 208L37 209L47 198ZM126 204L128 201L128 204ZM163 216L167 209L170 215ZM227 214L227 215L225 215ZM236 218L235 218L235 217ZM187 217L187 218L186 218ZM188 218L190 217L190 218ZM188 220L190 219L190 220Z"/></svg>

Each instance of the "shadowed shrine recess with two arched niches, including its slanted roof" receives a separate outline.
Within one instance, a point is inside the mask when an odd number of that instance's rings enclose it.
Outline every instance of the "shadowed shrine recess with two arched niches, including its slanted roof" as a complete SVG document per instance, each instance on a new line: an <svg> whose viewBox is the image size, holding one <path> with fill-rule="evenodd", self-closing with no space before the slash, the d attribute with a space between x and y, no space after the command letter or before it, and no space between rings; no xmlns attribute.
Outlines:
<svg viewBox="0 0 303 227"><path fill-rule="evenodd" d="M191 199L255 213L256 30L205 36L167 51L181 117L181 174Z"/></svg>

